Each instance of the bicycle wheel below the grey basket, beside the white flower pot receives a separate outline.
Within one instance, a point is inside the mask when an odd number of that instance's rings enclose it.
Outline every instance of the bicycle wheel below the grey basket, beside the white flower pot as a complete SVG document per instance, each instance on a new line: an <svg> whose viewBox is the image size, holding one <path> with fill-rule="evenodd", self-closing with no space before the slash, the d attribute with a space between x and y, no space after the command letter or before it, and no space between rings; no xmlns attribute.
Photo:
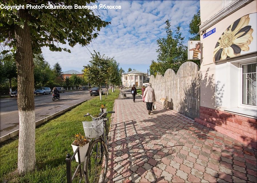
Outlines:
<svg viewBox="0 0 257 183"><path fill-rule="evenodd" d="M85 181L87 183L103 183L106 179L108 166L108 152L105 142L101 138L94 140L84 162Z"/></svg>

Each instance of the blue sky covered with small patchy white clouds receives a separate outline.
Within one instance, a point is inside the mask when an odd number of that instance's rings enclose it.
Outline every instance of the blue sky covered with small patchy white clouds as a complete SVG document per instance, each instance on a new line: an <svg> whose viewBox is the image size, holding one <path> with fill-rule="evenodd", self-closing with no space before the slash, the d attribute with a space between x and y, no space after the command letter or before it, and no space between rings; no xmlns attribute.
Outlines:
<svg viewBox="0 0 257 183"><path fill-rule="evenodd" d="M118 5L121 9L98 9L94 13L104 21L111 21L111 25L102 28L99 36L91 44L82 47L79 44L73 48L63 45L71 50L68 52L52 52L49 48L42 49L43 56L53 67L59 63L62 71L81 71L83 66L89 64L91 53L95 51L114 57L120 67L147 73L151 61L156 61L158 45L156 40L166 37L165 21L168 19L172 30L178 25L185 45L191 37L189 23L200 8L198 0L185 1L101 1L99 4ZM99 8L99 6L98 6ZM60 45L60 44L59 44Z"/></svg>

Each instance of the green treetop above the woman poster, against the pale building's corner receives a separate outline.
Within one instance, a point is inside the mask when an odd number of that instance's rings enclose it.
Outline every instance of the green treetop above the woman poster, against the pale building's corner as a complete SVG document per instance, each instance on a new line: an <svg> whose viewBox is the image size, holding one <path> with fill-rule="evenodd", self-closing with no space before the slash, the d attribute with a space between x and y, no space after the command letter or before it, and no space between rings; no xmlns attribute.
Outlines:
<svg viewBox="0 0 257 183"><path fill-rule="evenodd" d="M194 35L193 37L189 38L190 40L200 40L200 34L199 34L199 25L200 25L201 19L200 19L200 10L194 14L192 20L189 24L189 33Z"/></svg>

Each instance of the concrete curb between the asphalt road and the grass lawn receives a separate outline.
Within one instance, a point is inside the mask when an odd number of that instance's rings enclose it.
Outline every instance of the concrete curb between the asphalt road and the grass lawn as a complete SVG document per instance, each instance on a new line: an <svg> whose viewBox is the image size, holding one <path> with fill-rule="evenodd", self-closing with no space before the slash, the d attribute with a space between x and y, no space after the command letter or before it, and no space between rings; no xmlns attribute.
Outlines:
<svg viewBox="0 0 257 183"><path fill-rule="evenodd" d="M74 105L72 105L72 106L69 106L69 107L67 107L67 108L65 108L65 109L63 109L63 110L58 111L58 112L55 112L55 113L51 114L50 116L47 116L47 117L42 118L42 119L40 119L40 120L37 120L37 121L36 121L36 127L39 126L39 125L41 125L41 124L43 124L44 122L47 122L48 120L54 118L55 116L58 116L58 115L60 115L60 114L63 114L63 113L66 112L67 110L70 110L70 109L72 109L72 108L74 108L74 107L76 107L76 106L78 106L78 105L80 105L80 104L82 104L83 102L86 102L86 101L87 101L87 100L83 100L83 101L81 101L81 102L79 102L79 103L77 103L77 104L74 104ZM8 139L10 139L10 138L12 138L12 137L14 137L14 136L17 136L17 135L19 135L19 129L13 130L12 132L9 132L9 133L7 133L7 134L4 135L4 136L1 136L1 137L0 137L0 143L1 143L1 142L4 142L5 140L8 140Z"/></svg>

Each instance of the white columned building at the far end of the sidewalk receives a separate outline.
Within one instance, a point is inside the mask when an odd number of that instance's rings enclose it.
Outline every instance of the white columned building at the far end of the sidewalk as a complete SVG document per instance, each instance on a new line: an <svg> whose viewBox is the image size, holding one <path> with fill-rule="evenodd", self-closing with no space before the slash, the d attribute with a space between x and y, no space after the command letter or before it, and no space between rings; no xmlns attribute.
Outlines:
<svg viewBox="0 0 257 183"><path fill-rule="evenodd" d="M147 78L147 73L132 70L128 73L122 73L121 81L124 87L131 87L133 85L142 87L143 83L147 83L149 80Z"/></svg>

